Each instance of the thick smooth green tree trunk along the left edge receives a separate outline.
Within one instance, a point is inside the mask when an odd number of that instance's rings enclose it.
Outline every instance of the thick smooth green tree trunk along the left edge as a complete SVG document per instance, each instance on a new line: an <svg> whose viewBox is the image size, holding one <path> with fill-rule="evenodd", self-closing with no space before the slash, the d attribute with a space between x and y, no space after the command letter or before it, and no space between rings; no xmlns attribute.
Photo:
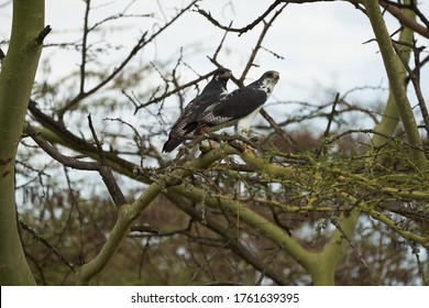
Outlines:
<svg viewBox="0 0 429 308"><path fill-rule="evenodd" d="M0 73L0 285L34 285L18 232L14 163L42 51L44 0L14 0Z"/></svg>

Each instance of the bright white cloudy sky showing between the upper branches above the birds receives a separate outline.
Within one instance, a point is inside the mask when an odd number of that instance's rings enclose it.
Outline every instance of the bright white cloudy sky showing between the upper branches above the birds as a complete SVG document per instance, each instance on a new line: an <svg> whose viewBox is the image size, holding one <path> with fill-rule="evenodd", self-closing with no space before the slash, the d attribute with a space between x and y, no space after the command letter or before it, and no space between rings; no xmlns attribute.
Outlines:
<svg viewBox="0 0 429 308"><path fill-rule="evenodd" d="M4 2L4 1L3 1ZM131 1L92 1L90 24L118 13ZM110 43L121 45L123 48L118 53L109 53L100 56L100 63L118 62L132 48L135 40L145 31L152 33L157 25L164 23L164 19L169 19L176 13L176 7L185 7L189 1L174 0L138 0L129 13L150 14L154 18L147 19L125 19L121 22L112 22L116 29L99 32L97 37L91 36L98 44ZM222 24L228 25L233 20L234 28L241 28L252 22L273 1L249 1L249 0L205 0L200 7L210 11L212 15ZM421 10L429 15L428 1L422 2ZM162 10L160 8L162 7ZM82 22L85 3L76 0L46 0L46 24L50 24L53 32L47 36L46 43L59 43L64 41L78 41ZM0 40L9 36L11 18L11 6L0 9ZM397 30L398 23L393 18L387 18L391 33ZM246 59L256 43L256 38L262 26L256 30L238 36L234 33L228 35L223 52L219 61L226 67L239 76L244 68ZM206 74L213 69L213 65L206 56L211 56L218 46L223 31L215 28L204 16L196 12L188 12L172 28L169 28L155 45L145 50L136 57L136 62L144 65L150 62L170 63L164 68L168 73L174 68L176 59L179 57L183 47L184 61L198 74ZM270 53L261 51L256 64L260 67L252 68L249 74L250 82L258 78L265 70L275 69L280 73L280 81L277 84L270 102L290 100L314 100L315 102L327 102L326 90L339 91L343 94L354 87L383 86L387 87L387 79L377 53L376 43L363 44L373 37L373 32L366 16L354 9L350 3L336 1L309 4L289 4L282 15L275 21L270 30L263 46L284 57L277 59ZM427 40L418 37L422 45ZM6 51L6 47L2 47ZM422 57L427 53L422 54ZM77 69L80 57L78 53L53 52L46 48L42 61L50 61L52 72L48 78L59 78L59 76L73 69ZM100 66L106 69L105 66ZM111 68L114 68L114 62ZM428 94L429 69L422 70L421 84L424 95ZM188 81L196 75L185 66L180 67L182 81ZM38 80L46 78L42 73L37 75ZM160 79L151 78L145 80L144 87L155 87ZM201 85L204 86L204 85ZM230 86L232 89L233 86ZM195 92L187 92L190 100ZM386 91L361 91L356 92L355 100L373 101L384 100ZM417 101L410 96L411 103ZM168 101L166 110L177 110L177 101ZM275 110L275 113L277 113ZM280 109L282 112L293 112L293 110ZM168 112L168 111L166 111ZM274 111L273 111L274 112ZM177 117L173 113L170 119Z"/></svg>

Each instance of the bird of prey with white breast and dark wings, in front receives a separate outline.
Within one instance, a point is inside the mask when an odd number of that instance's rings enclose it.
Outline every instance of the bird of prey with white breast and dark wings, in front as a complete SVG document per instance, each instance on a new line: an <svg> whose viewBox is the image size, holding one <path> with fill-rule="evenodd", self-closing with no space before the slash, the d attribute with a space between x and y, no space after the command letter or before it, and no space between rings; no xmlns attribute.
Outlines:
<svg viewBox="0 0 429 308"><path fill-rule="evenodd" d="M268 70L246 87L224 96L195 121L185 127L187 133L196 135L221 128L237 125L237 133L248 136L253 119L273 92L279 79L278 72Z"/></svg>

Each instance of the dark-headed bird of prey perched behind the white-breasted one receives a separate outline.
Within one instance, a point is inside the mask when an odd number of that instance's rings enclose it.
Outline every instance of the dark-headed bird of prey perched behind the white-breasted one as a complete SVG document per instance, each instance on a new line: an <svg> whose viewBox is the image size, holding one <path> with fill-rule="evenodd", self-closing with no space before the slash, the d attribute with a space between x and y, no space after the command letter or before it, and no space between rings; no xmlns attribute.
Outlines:
<svg viewBox="0 0 429 308"><path fill-rule="evenodd" d="M163 146L163 152L172 152L182 142L194 135L194 130L186 130L185 127L195 122L207 108L218 103L219 100L228 95L227 82L231 76L231 70L228 68L219 68L215 73L213 78L204 88L202 92L185 107L182 116L169 132L168 140Z"/></svg>

